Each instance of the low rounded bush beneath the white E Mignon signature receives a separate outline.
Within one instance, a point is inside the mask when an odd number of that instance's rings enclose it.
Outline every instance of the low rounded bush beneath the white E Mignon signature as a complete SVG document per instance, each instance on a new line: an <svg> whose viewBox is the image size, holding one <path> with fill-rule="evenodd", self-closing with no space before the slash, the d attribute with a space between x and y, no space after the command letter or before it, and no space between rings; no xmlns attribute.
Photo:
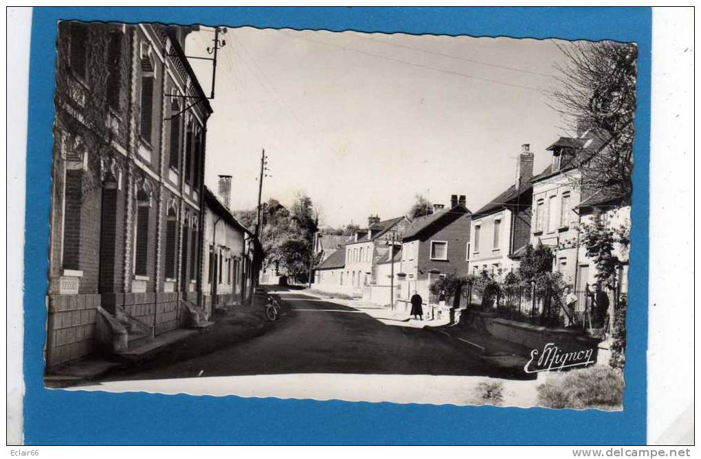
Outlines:
<svg viewBox="0 0 701 459"><path fill-rule="evenodd" d="M620 371L608 366L590 366L539 385L538 402L548 408L620 409L624 386Z"/></svg>

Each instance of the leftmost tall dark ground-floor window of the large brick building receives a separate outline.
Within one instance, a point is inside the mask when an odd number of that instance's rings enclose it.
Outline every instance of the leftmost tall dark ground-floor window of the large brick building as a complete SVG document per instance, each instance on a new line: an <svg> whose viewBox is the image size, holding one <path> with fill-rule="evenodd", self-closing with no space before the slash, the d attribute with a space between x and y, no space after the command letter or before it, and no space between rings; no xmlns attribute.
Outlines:
<svg viewBox="0 0 701 459"><path fill-rule="evenodd" d="M63 267L80 269L83 171L67 170L63 215Z"/></svg>

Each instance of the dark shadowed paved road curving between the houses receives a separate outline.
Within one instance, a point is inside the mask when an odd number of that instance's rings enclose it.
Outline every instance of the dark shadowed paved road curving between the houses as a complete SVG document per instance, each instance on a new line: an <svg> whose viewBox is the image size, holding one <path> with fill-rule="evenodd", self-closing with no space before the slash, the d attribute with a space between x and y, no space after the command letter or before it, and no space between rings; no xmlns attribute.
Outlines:
<svg viewBox="0 0 701 459"><path fill-rule="evenodd" d="M266 334L129 379L255 374L428 374L508 377L466 345L426 329L396 327L332 301L282 293L287 313ZM158 365L158 364L156 364Z"/></svg>

